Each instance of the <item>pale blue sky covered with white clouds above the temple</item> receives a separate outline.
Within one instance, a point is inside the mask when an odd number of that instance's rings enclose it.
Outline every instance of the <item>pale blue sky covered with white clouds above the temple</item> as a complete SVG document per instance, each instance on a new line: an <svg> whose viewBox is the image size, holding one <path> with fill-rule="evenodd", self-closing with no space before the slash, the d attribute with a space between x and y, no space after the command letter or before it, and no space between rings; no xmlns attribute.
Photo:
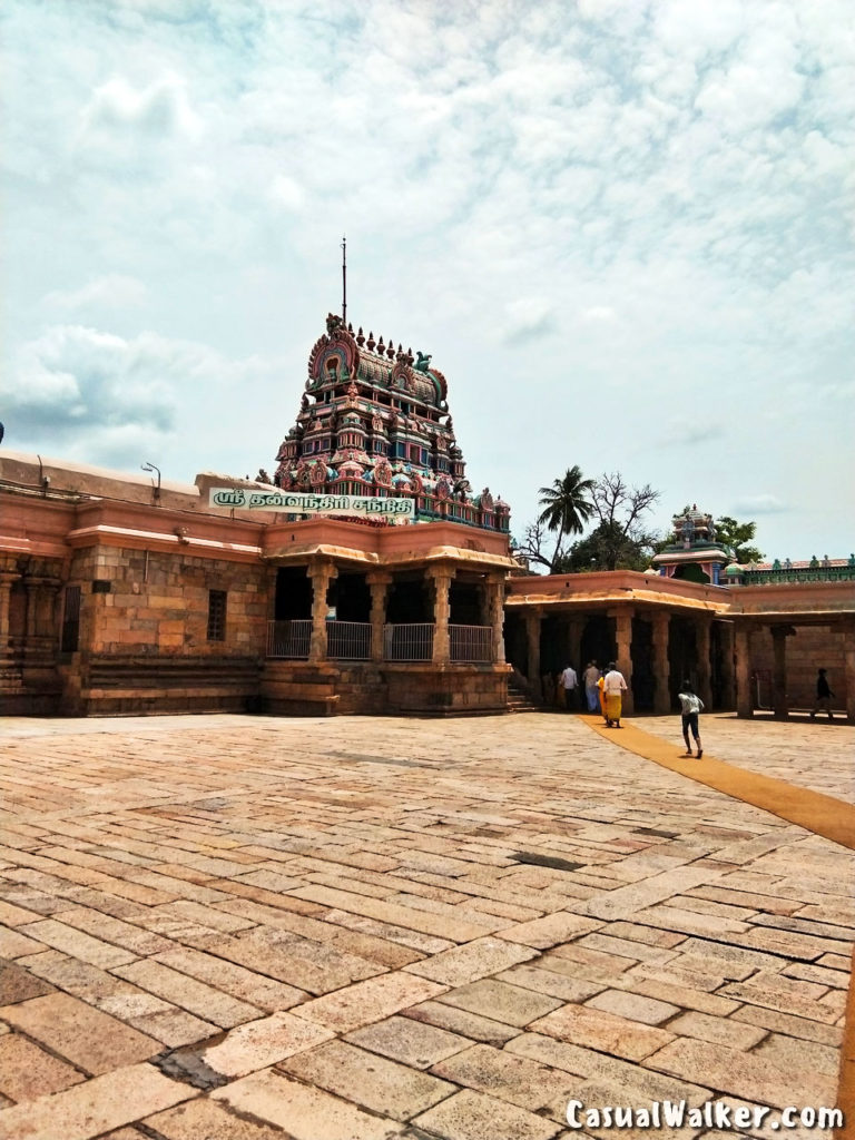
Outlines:
<svg viewBox="0 0 855 1140"><path fill-rule="evenodd" d="M3 446L274 466L341 306L473 488L855 543L850 0L5 0Z"/></svg>

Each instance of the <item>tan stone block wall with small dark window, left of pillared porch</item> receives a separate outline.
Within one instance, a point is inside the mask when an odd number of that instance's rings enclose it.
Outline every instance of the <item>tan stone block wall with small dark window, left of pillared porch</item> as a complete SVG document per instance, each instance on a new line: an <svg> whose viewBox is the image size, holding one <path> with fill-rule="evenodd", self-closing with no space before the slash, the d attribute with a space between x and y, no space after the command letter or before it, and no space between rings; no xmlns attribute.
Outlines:
<svg viewBox="0 0 855 1140"><path fill-rule="evenodd" d="M79 651L64 661L64 711L178 712L253 708L264 653L269 571L174 553L79 551ZM209 638L211 591L226 595L221 637Z"/></svg>

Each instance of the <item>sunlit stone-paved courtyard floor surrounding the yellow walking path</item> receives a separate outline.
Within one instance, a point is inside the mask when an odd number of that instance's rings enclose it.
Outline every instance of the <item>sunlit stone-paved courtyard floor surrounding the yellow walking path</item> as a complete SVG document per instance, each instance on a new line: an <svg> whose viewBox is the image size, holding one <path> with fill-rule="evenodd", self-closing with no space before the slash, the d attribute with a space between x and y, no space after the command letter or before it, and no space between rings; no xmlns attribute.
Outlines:
<svg viewBox="0 0 855 1140"><path fill-rule="evenodd" d="M636 723L682 751L676 717ZM854 728L703 731L855 801ZM0 732L0 1138L548 1140L616 1134L568 1129L570 1099L834 1105L854 853L583 719Z"/></svg>

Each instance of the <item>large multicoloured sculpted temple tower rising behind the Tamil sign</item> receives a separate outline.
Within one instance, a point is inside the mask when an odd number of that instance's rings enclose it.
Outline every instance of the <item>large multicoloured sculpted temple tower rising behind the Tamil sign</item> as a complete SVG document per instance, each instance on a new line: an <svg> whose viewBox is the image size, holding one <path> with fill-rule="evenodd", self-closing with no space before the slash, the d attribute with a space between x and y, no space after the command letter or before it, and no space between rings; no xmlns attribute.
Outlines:
<svg viewBox="0 0 855 1140"><path fill-rule="evenodd" d="M511 508L472 494L431 357L375 341L335 314L309 356L296 423L277 453L283 490L415 499L416 522L449 520L507 532ZM375 524L384 526L385 522Z"/></svg>

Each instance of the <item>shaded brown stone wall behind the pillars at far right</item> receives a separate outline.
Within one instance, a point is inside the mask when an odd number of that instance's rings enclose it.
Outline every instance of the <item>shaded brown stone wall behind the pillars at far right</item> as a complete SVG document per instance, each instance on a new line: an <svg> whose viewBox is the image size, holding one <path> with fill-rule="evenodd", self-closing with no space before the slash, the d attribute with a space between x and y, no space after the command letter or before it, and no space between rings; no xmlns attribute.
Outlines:
<svg viewBox="0 0 855 1140"><path fill-rule="evenodd" d="M787 638L787 691L790 708L813 708L816 694L816 670L828 669L828 679L834 693L834 708L846 708L846 662L844 645L846 634L826 626L798 626ZM751 634L751 671L760 673L760 699L772 703L772 671L774 653L768 628ZM755 691L756 694L756 691Z"/></svg>

